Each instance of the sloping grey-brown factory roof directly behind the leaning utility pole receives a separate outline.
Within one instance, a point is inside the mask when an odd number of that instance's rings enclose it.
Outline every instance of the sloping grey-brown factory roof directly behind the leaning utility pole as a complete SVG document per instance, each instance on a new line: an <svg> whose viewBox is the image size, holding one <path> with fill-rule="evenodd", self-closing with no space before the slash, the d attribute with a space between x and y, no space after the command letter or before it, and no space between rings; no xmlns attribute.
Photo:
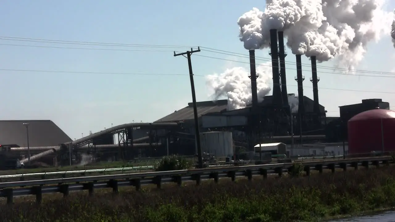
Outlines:
<svg viewBox="0 0 395 222"><path fill-rule="evenodd" d="M198 117L205 115L207 113L215 113L222 112L226 110L228 106L227 100L217 100L213 101L205 101L205 102L197 102L196 106L198 108ZM190 120L194 119L194 107L193 103L188 103L187 107L184 107L166 117L156 120L155 122L174 122L174 121L182 121L182 120Z"/></svg>

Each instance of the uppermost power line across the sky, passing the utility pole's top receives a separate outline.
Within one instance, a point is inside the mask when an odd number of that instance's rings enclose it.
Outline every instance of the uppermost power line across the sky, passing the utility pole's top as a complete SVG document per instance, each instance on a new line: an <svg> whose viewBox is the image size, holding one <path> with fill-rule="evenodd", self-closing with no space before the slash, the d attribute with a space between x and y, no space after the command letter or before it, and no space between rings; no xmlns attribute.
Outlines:
<svg viewBox="0 0 395 222"><path fill-rule="evenodd" d="M187 45L150 45L150 44L130 44L130 43L108 43L108 42L91 42L91 41L66 41L66 40L49 40L49 39L38 39L38 38L22 38L22 37L10 37L10 36L0 36L0 40L10 40L10 41L30 41L30 42L40 42L40 43L59 43L59 44L76 44L76 45L100 45L100 46L119 46L119 47L159 47L159 48L190 48L191 46ZM20 45L23 46L23 45ZM27 45L26 45L27 46ZM38 47L38 46L36 46ZM66 48L67 49L67 48ZM76 48L79 49L79 48ZM87 49L87 48L85 48ZM231 55L237 56L242 58L248 58L248 55L241 54L241 53L234 53L231 51L214 49L210 47L201 47L201 49L206 49L204 51L212 52L212 53L219 53L224 55ZM104 49L103 49L104 50ZM122 50L120 50L122 51ZM255 57L257 60L263 61L271 61L269 57ZM296 62L288 61L288 64L296 64ZM302 63L304 66L311 67L311 64ZM377 73L377 74L389 74L394 75L395 73L392 72L382 72L382 71L369 71L369 70L349 70L345 68L339 67L329 67L329 66L320 66L318 65L317 68L321 69L329 69L329 70L339 70L339 71L352 71L357 73Z"/></svg>

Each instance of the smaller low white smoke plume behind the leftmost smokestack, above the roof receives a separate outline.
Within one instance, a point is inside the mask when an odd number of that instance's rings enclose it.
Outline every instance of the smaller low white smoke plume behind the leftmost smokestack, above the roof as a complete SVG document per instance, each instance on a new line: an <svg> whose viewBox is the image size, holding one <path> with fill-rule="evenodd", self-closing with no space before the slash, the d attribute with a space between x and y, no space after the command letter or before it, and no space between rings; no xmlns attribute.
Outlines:
<svg viewBox="0 0 395 222"><path fill-rule="evenodd" d="M263 97L269 94L271 88L271 62L265 62L257 66L256 79L258 89L258 102L263 101ZM243 109L252 103L251 80L248 78L250 70L243 67L226 69L221 74L206 76L206 85L211 92L212 99L218 100L221 97L228 98L228 110Z"/></svg>

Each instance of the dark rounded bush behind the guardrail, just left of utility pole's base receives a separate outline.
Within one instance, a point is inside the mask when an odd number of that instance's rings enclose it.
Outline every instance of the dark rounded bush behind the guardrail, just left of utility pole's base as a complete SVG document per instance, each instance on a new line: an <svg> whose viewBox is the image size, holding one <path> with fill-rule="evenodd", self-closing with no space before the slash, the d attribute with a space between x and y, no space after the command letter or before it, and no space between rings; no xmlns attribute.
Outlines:
<svg viewBox="0 0 395 222"><path fill-rule="evenodd" d="M164 156L154 165L155 171L182 170L189 169L190 167L190 162L188 162L182 156L177 155Z"/></svg>

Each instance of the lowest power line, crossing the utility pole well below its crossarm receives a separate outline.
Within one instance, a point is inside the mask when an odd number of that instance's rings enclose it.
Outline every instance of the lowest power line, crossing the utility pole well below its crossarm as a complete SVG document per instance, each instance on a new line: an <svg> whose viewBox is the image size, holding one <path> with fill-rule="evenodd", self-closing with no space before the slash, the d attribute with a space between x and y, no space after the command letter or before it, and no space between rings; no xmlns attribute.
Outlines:
<svg viewBox="0 0 395 222"><path fill-rule="evenodd" d="M47 72L47 73L76 73L76 74L109 74L109 75L174 75L174 76L185 76L185 74L167 74L167 73L124 73L124 72L92 72L92 71L60 71L60 70L20 70L20 69L0 69L0 71L19 71L19 72ZM214 79L227 79L224 77L208 77L205 75L196 75L198 77L205 77L205 78L214 78ZM292 87L297 87L297 85L289 85ZM312 88L310 86L303 86L303 88ZM320 87L320 89L326 90L340 90L340 91L349 91L349 92L373 92L373 93L384 93L384 94L395 94L395 92L380 92L380 91L366 91L366 90L352 90L352 89L342 89L342 88L325 88Z"/></svg>

